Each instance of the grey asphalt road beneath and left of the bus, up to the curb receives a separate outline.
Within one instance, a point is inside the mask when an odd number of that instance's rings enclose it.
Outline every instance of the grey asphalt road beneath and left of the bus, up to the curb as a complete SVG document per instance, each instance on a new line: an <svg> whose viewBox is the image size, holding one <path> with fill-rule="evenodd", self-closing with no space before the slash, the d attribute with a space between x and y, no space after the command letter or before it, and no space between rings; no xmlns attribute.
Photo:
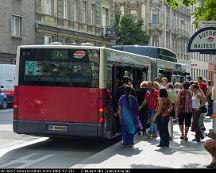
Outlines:
<svg viewBox="0 0 216 173"><path fill-rule="evenodd" d="M13 133L12 113L0 110L0 168L70 168L116 142L18 135Z"/></svg>

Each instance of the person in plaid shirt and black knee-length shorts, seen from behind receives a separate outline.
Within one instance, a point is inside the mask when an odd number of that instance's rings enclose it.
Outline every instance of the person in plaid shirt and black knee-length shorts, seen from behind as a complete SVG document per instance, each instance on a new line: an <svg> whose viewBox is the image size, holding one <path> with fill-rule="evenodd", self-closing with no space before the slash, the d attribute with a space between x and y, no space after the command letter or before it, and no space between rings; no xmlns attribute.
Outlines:
<svg viewBox="0 0 216 173"><path fill-rule="evenodd" d="M187 134L191 125L192 117L192 92L190 91L189 86L189 82L184 82L183 89L178 92L176 97L176 113L181 131L180 139L186 141L188 140Z"/></svg>

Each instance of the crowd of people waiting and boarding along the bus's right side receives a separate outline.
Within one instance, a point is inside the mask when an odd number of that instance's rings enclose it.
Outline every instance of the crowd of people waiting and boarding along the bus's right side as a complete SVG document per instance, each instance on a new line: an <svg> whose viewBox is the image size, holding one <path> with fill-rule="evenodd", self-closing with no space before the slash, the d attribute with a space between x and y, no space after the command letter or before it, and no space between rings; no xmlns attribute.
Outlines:
<svg viewBox="0 0 216 173"><path fill-rule="evenodd" d="M195 132L192 141L204 139L206 130L204 115L212 115L212 86L198 77L198 81L184 83L168 83L163 77L155 81L143 81L135 91L132 79L123 77L123 84L116 91L115 100L118 102L116 115L119 115L122 134L122 147L134 145L134 135L144 135L147 138L160 137L158 147L169 147L173 140L173 122L177 121L180 129L180 139L188 141L188 131ZM208 109L206 108L208 102ZM208 168L216 168L215 139L207 140L205 149L211 154L212 162Z"/></svg>

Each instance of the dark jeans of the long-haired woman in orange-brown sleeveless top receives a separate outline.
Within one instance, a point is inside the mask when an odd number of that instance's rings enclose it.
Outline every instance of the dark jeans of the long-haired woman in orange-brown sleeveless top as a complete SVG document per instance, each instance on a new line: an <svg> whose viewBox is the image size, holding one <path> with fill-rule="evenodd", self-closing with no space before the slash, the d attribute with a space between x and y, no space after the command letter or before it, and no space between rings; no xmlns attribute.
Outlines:
<svg viewBox="0 0 216 173"><path fill-rule="evenodd" d="M169 116L161 117L157 123L159 135L160 135L160 146L169 146L169 132L168 132Z"/></svg>

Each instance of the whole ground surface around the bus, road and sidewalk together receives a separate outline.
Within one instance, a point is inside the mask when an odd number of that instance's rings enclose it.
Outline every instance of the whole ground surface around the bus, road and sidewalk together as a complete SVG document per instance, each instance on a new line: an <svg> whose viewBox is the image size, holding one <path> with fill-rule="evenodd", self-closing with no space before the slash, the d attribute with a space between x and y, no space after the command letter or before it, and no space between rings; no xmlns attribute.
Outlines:
<svg viewBox="0 0 216 173"><path fill-rule="evenodd" d="M159 138L135 137L132 149L120 142L95 139L49 139L12 132L12 109L0 110L0 168L205 168L211 161L203 143L180 140L174 125L170 148L156 147ZM205 126L212 127L209 118Z"/></svg>

